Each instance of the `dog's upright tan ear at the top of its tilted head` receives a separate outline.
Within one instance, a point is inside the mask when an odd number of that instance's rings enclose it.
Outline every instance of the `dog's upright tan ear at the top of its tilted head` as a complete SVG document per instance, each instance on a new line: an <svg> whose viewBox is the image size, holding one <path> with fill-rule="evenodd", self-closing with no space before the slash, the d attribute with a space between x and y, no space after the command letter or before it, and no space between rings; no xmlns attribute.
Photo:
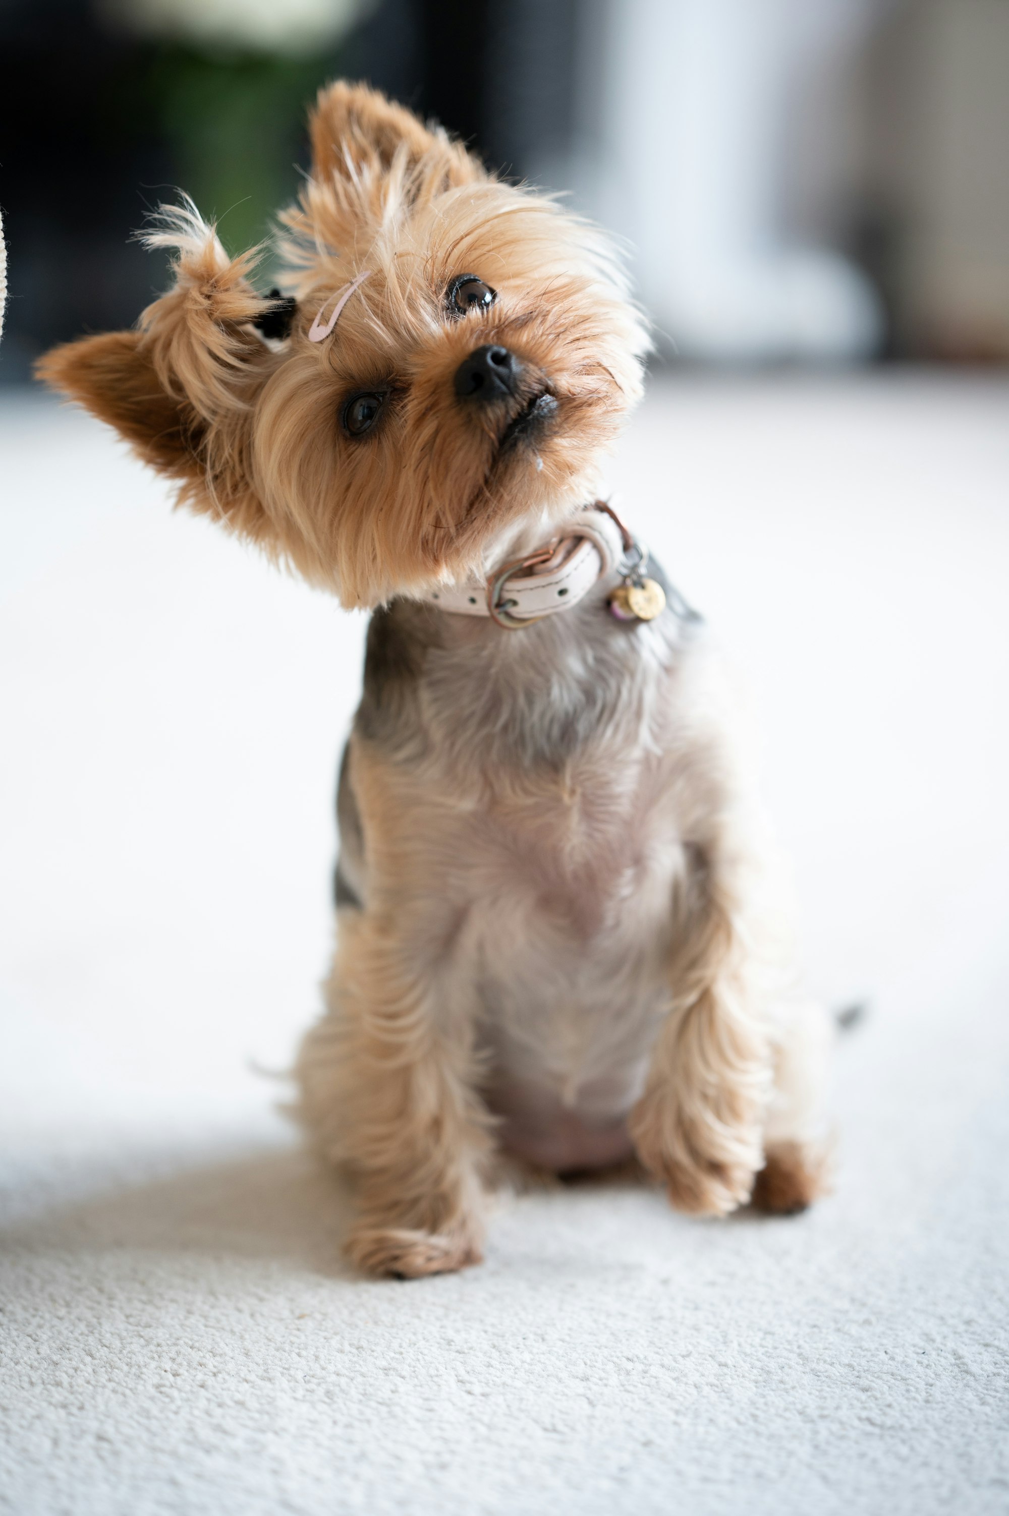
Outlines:
<svg viewBox="0 0 1009 1516"><path fill-rule="evenodd" d="M313 177L323 183L334 176L385 174L398 156L407 168L423 164L425 177L437 177L445 186L487 177L482 164L443 127L423 126L410 111L367 85L340 79L320 89L310 132Z"/></svg>

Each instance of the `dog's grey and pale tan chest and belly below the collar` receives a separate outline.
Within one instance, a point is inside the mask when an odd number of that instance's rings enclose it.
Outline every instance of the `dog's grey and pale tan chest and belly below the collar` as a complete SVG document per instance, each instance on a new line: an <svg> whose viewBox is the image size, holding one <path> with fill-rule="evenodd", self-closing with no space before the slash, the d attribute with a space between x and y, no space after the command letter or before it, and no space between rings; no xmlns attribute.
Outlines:
<svg viewBox="0 0 1009 1516"><path fill-rule="evenodd" d="M452 632L388 737L372 728L419 785L438 999L476 1017L510 1146L555 1167L621 1157L669 1004L684 647L671 619L628 635L602 608L505 641Z"/></svg>

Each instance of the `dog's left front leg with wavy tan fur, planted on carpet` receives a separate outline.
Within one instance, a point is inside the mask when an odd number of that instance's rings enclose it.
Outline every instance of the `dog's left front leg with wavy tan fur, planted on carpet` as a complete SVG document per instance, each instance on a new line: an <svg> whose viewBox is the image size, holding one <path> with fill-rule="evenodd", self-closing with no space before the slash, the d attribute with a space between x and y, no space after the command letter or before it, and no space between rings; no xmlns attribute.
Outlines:
<svg viewBox="0 0 1009 1516"><path fill-rule="evenodd" d="M407 960L390 922L344 913L329 1014L305 1038L297 1075L302 1117L357 1186L349 1258L416 1278L481 1261L490 1143L472 1032L438 1031L432 975Z"/></svg>

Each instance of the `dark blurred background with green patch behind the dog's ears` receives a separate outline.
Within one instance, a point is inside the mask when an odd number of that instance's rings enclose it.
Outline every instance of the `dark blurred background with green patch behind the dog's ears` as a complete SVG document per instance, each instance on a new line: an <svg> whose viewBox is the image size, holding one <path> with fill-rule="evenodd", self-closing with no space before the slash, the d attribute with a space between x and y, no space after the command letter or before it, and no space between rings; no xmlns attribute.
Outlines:
<svg viewBox="0 0 1009 1516"><path fill-rule="evenodd" d="M278 58L130 35L86 0L6 0L0 382L27 381L53 343L135 321L167 268L130 232L176 188L231 252L259 241L297 191L305 109L338 74L443 121L492 167L522 174L543 144L563 155L574 33L575 0L385 0L337 49Z"/></svg>

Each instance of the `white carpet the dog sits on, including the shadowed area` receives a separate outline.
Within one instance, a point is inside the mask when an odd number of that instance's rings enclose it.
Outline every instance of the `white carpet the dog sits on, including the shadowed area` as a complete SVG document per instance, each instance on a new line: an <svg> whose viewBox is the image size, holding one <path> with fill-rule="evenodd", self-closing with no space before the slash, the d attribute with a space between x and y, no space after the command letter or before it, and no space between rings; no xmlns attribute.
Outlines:
<svg viewBox="0 0 1009 1516"><path fill-rule="evenodd" d="M0 418L0 1510L1009 1510L1009 385L657 384L621 499L756 688L841 1173L797 1220L502 1205L364 1283L272 1113L363 622L109 435Z"/></svg>

